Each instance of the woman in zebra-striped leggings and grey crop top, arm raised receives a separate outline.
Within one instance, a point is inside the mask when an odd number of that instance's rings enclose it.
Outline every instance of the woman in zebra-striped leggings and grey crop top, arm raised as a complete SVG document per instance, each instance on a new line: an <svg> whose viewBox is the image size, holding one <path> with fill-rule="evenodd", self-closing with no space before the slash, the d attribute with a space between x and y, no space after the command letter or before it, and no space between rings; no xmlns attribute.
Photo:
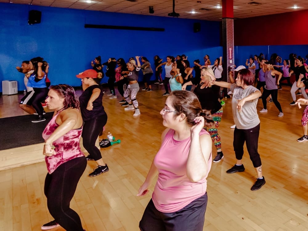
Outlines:
<svg viewBox="0 0 308 231"><path fill-rule="evenodd" d="M135 67L136 62L135 60L131 60L130 62L126 63L127 69L129 73L127 75L123 75L121 79L127 78L128 86L124 91L124 98L128 103L128 107L125 107L124 110L135 110L133 116L140 115L140 110L138 107L137 101L137 93L139 91L139 83L138 83L138 74L141 69L141 64L139 60L140 56L136 56L137 60L137 67Z"/></svg>

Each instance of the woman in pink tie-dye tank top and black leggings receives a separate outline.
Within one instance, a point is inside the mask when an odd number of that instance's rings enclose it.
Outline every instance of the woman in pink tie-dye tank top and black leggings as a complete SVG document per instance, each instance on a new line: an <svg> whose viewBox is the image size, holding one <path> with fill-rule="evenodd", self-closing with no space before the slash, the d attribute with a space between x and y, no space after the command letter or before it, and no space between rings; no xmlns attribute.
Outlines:
<svg viewBox="0 0 308 231"><path fill-rule="evenodd" d="M48 108L55 110L43 131L47 165L44 193L54 221L44 224L47 230L61 225L65 230L83 231L79 215L70 208L87 160L80 150L82 118L74 88L66 84L51 86L46 99Z"/></svg>

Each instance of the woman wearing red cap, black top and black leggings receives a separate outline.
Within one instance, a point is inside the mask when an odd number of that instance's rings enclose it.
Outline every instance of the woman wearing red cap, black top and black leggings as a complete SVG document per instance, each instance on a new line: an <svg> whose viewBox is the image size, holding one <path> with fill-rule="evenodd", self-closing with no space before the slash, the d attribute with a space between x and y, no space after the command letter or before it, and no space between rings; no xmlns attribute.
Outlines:
<svg viewBox="0 0 308 231"><path fill-rule="evenodd" d="M95 146L95 141L99 132L107 123L107 114L104 110L103 90L99 82L102 74L89 69L85 70L77 78L81 79L83 93L79 97L81 116L84 121L82 138L83 147L89 152L87 160L95 160L98 164L89 176L97 176L109 171L107 164L104 163L100 150Z"/></svg>

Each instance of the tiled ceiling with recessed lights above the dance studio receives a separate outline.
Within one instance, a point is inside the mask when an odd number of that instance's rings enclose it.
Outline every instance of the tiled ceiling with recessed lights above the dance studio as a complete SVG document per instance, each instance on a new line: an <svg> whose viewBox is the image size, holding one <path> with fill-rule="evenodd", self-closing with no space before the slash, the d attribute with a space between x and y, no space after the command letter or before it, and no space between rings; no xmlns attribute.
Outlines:
<svg viewBox="0 0 308 231"><path fill-rule="evenodd" d="M106 12L117 12L127 14L144 14L168 17L172 12L172 0L138 0L129 2L126 0L0 0L11 4L32 4L38 6L51 6L82 10L97 10ZM199 3L200 2L200 3ZM260 5L248 3L258 2ZM296 10L307 10L307 0L233 0L234 18L249 18L268 14L279 14ZM294 5L298 9L293 9ZM149 14L149 6L154 7L154 14ZM175 12L180 14L179 18L191 18L210 21L220 21L222 17L220 0L176 0ZM201 10L201 8L207 10ZM195 14L191 12L195 11Z"/></svg>

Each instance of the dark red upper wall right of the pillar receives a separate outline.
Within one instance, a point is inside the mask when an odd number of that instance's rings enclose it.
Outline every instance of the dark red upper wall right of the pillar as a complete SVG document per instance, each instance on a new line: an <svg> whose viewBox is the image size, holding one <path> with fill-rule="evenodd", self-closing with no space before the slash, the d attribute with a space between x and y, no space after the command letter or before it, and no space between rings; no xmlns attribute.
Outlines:
<svg viewBox="0 0 308 231"><path fill-rule="evenodd" d="M236 19L234 46L308 44L307 24L308 10Z"/></svg>

